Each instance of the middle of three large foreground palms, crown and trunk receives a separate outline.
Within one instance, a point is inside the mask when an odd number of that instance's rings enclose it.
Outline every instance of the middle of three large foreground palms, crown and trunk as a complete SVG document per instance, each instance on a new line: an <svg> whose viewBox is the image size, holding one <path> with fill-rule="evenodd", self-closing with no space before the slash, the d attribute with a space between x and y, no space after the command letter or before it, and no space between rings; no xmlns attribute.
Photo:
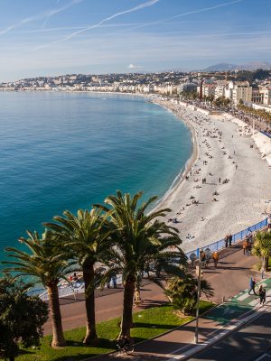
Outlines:
<svg viewBox="0 0 271 361"><path fill-rule="evenodd" d="M105 227L107 216L102 215L99 209L79 209L77 216L66 210L64 217L56 216L56 223L45 223L65 248L69 249L70 256L77 259L82 268L85 282L85 304L87 311L87 331L85 344L97 341L95 321L95 264L105 261L107 251L110 249L109 233Z"/></svg>

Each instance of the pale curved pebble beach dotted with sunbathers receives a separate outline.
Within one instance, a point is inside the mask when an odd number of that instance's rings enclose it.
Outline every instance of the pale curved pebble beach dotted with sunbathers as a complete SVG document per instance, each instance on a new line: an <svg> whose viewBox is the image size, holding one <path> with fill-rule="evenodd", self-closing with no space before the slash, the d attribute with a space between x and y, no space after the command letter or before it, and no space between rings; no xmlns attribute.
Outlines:
<svg viewBox="0 0 271 361"><path fill-rule="evenodd" d="M180 231L184 252L266 218L271 168L257 146L267 143L268 148L271 139L265 136L256 144L257 133L228 114L208 115L171 100L155 103L173 111L192 131L193 153L182 180L158 205L172 209L166 222Z"/></svg>

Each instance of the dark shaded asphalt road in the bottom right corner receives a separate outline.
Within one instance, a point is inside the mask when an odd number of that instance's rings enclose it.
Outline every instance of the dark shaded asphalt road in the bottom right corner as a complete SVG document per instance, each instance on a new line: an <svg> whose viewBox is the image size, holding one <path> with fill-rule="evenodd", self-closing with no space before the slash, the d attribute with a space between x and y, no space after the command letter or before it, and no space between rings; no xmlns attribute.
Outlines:
<svg viewBox="0 0 271 361"><path fill-rule="evenodd" d="M271 306L247 326L201 353L191 361L271 360Z"/></svg>

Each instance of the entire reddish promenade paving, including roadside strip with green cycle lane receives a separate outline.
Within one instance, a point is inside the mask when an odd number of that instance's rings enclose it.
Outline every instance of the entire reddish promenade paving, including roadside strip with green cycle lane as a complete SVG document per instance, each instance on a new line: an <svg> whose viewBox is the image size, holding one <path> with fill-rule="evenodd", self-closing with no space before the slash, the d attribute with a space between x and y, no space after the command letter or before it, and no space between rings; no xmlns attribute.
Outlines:
<svg viewBox="0 0 271 361"><path fill-rule="evenodd" d="M178 360L185 359L192 355L197 349L201 350L206 345L228 330L234 329L243 319L255 317L266 307L259 308L259 301L256 296L248 295L248 282L251 276L256 277L257 282L264 282L267 293L267 301L271 296L271 280L260 279L252 266L257 262L253 256L243 255L241 245L233 245L220 253L218 267L211 263L203 269L203 277L210 281L214 288L214 296L211 301L221 304L200 319L199 342L196 346L193 343L195 321L192 321L178 329L166 334L145 341L135 346L135 354L128 356L135 360ZM147 282L147 281L146 281ZM104 292L97 292L96 310L97 321L111 319L121 315L123 294L122 289L109 289ZM164 293L154 283L145 284L142 288L144 299L143 308L153 307L166 301ZM141 308L136 308L141 310ZM85 325L85 309L83 296L79 295L78 300L72 298L61 299L61 313L64 329L75 329ZM51 324L47 323L47 333L51 333ZM95 357L99 361L112 360L112 355Z"/></svg>

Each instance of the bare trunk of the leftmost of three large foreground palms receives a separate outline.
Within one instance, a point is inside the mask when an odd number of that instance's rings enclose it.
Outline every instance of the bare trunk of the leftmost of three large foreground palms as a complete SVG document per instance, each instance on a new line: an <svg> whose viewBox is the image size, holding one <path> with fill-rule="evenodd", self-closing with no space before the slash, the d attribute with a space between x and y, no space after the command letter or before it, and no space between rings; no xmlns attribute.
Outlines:
<svg viewBox="0 0 271 361"><path fill-rule="evenodd" d="M51 347L64 347L66 341L62 329L61 306L57 283L47 285L49 307L51 310L52 341Z"/></svg>

